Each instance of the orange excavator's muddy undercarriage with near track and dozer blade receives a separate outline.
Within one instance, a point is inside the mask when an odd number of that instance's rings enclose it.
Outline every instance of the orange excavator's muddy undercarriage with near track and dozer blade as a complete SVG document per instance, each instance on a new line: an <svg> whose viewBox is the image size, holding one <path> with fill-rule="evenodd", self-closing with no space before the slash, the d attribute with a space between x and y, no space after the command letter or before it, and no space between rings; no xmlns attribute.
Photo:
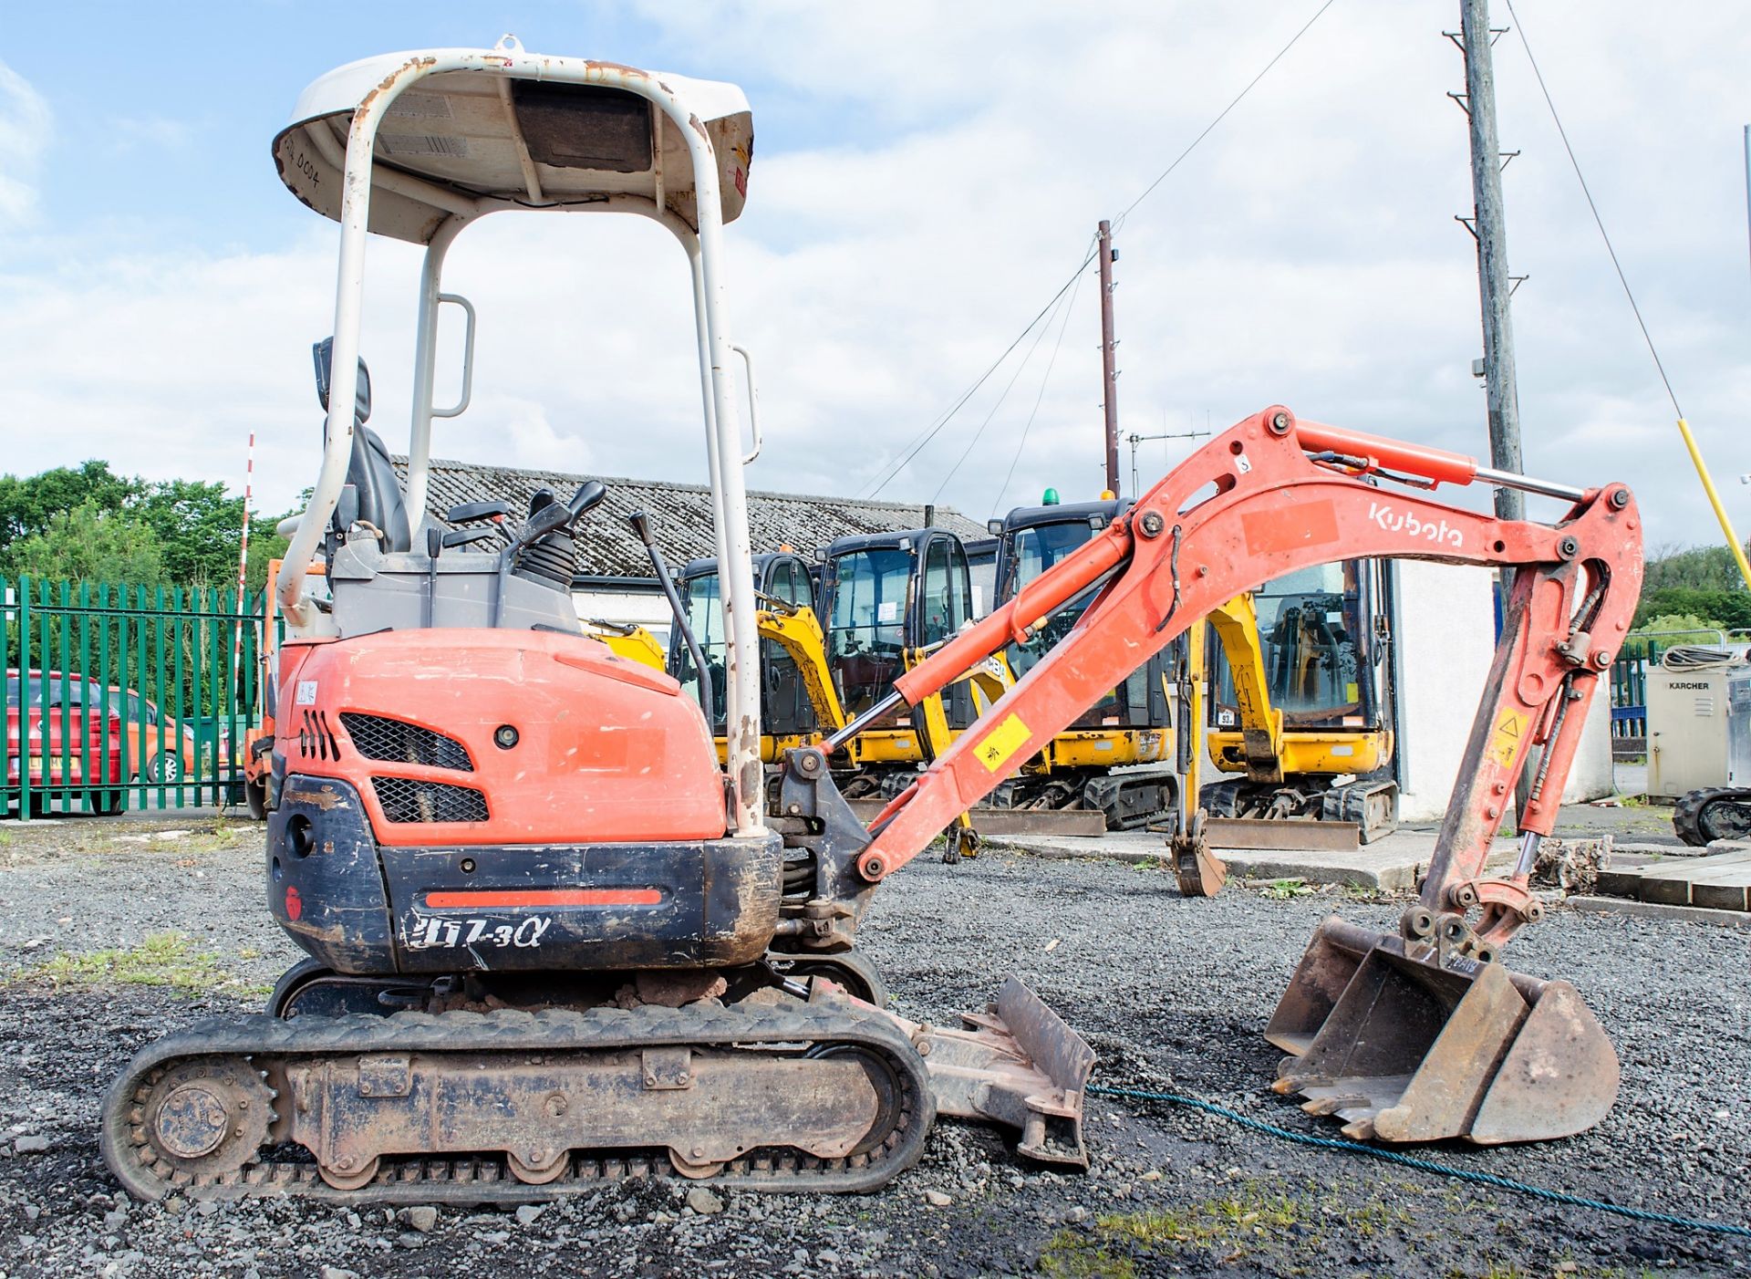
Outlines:
<svg viewBox="0 0 1751 1279"><path fill-rule="evenodd" d="M135 1058L102 1146L147 1200L529 1202L651 1174L867 1191L918 1160L937 1114L1087 1167L1091 1065L1016 981L960 1030L819 978L728 1006L214 1018Z"/></svg>

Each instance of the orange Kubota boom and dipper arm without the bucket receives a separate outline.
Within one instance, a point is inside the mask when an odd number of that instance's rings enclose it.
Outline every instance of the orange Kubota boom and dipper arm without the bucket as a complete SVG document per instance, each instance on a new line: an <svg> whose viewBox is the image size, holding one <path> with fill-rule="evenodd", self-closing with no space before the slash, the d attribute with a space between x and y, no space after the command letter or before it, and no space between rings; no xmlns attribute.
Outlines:
<svg viewBox="0 0 1751 1279"><path fill-rule="evenodd" d="M1504 482L1457 454L1299 424L1289 410L1268 408L1199 449L1075 555L902 675L897 689L916 704L1103 582L1072 632L884 809L860 873L879 880L909 862L1107 689L1241 590L1352 557L1504 566L1516 569L1515 592L1424 904L1480 906L1480 936L1497 944L1511 936L1536 916L1525 892L1530 866L1485 880L1490 839L1534 743L1548 750L1523 829L1551 829L1590 699L1641 590L1639 515L1620 484L1583 492L1527 482L1574 498L1574 508L1557 526L1497 520L1362 478L1392 475L1387 468L1422 487Z"/></svg>

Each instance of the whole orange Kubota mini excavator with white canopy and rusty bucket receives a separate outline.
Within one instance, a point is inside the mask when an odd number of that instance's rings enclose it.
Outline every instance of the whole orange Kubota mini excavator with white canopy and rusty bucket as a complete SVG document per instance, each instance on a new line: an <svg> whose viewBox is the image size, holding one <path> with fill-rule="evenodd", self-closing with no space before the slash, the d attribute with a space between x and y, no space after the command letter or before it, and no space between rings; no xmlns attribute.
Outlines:
<svg viewBox="0 0 1751 1279"><path fill-rule="evenodd" d="M317 359L322 470L277 583L287 640L264 887L310 958L266 1013L137 1053L103 1102L121 1184L144 1198L473 1204L672 1170L748 1190L872 1190L919 1156L939 1114L1000 1123L1021 1155L1086 1165L1089 1048L1014 979L963 1028L895 1016L865 979L860 922L956 813L1215 604L1355 555L1513 568L1513 596L1422 902L1392 936L1320 929L1271 1021L1290 1055L1278 1086L1387 1141L1595 1123L1616 1090L1611 1044L1572 986L1511 974L1499 950L1539 916L1527 874L1635 604L1628 489L1499 475L1266 408L835 734L916 706L1094 592L870 827L835 790L826 745L790 750L769 799L718 286L749 142L734 86L513 40L354 63L299 100L275 158L301 200L341 223L341 252L333 345ZM531 208L643 214L693 266L725 766L681 685L578 625L573 533L599 484L534 503L503 543L447 545L424 522L443 252L478 216ZM404 494L364 424L368 228L427 247ZM1427 494L1473 480L1571 510L1555 526L1495 520ZM492 519L476 506L450 522ZM1532 743L1544 753L1522 857L1490 876L1485 853Z"/></svg>

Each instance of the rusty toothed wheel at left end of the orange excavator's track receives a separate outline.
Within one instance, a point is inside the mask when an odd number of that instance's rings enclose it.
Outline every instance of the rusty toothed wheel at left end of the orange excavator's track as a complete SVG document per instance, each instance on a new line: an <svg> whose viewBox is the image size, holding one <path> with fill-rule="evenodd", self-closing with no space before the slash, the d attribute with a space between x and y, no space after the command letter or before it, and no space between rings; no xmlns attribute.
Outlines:
<svg viewBox="0 0 1751 1279"><path fill-rule="evenodd" d="M128 1118L142 1163L175 1184L219 1181L266 1141L273 1090L242 1056L201 1056L151 1078Z"/></svg>

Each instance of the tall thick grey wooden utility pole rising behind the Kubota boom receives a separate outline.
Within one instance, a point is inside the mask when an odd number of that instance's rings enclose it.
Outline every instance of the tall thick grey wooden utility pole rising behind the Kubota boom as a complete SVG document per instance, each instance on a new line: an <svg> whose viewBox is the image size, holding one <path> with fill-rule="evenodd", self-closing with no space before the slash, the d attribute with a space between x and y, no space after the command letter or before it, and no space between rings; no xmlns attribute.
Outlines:
<svg viewBox="0 0 1751 1279"><path fill-rule="evenodd" d="M1495 137L1495 68L1490 60L1488 0L1460 0L1460 51L1466 54L1466 114L1471 117L1471 194L1478 238L1478 289L1483 298L1483 394L1490 420L1490 466L1522 471L1520 392L1515 385L1515 326L1509 317L1508 226L1502 214L1502 154ZM1525 494L1495 491L1501 519L1525 519Z"/></svg>

